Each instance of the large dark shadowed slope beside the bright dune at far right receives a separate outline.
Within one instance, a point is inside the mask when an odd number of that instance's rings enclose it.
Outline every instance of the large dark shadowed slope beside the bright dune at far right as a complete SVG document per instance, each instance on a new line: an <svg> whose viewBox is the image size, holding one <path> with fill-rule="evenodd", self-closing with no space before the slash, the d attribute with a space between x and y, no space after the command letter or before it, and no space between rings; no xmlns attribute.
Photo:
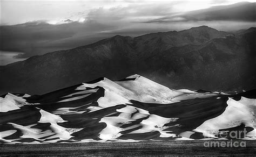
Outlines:
<svg viewBox="0 0 256 157"><path fill-rule="evenodd" d="M179 118L165 124L169 126L165 131L179 134L191 131L203 124L206 120L217 117L227 107L228 97L223 98L196 98L173 104L143 103L131 100L132 106L149 111L150 114L165 118Z"/></svg>

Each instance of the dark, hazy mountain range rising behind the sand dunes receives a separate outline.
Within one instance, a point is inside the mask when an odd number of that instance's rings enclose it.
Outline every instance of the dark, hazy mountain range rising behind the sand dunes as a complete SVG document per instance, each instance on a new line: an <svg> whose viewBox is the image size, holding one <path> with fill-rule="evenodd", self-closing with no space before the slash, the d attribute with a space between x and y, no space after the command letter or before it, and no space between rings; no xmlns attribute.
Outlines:
<svg viewBox="0 0 256 157"><path fill-rule="evenodd" d="M134 73L176 89L249 90L256 87L254 51L255 31L233 35L200 26L136 38L116 35L2 66L0 92L42 94Z"/></svg>

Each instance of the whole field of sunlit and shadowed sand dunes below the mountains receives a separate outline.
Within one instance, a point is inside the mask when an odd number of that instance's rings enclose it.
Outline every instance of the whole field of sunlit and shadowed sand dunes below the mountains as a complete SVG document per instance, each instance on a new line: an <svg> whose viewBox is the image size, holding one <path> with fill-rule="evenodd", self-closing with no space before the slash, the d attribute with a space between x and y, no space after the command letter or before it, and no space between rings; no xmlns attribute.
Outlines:
<svg viewBox="0 0 256 157"><path fill-rule="evenodd" d="M255 90L174 90L140 75L44 95L6 94L0 97L0 142L222 139L223 132L243 130L239 138L256 139L255 98Z"/></svg>

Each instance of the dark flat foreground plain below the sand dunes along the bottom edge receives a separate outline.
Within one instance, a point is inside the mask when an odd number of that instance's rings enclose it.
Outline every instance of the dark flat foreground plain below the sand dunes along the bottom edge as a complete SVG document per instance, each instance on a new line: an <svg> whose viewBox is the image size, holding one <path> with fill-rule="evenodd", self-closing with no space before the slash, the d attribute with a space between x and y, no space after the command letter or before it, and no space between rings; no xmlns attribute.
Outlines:
<svg viewBox="0 0 256 157"><path fill-rule="evenodd" d="M218 140L220 141L220 140ZM227 140L224 140L227 141ZM239 141L240 140L233 140ZM204 147L205 141L144 141L106 143L65 143L65 144L15 144L0 145L0 155L55 156L55 155L217 155L255 156L256 141L246 140L246 147Z"/></svg>

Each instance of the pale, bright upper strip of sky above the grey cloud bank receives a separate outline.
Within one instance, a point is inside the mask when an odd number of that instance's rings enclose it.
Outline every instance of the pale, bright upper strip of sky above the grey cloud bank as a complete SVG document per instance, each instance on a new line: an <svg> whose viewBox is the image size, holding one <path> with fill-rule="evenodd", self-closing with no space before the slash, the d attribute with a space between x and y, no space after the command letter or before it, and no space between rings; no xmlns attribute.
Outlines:
<svg viewBox="0 0 256 157"><path fill-rule="evenodd" d="M78 20L82 22L96 11L111 12L116 9L125 9L128 14L141 13L138 20L152 19L165 13L210 8L216 5L228 5L242 2L231 1L28 1L28 0L1 0L1 24L15 25L36 20L45 20L50 24L62 23L63 20ZM247 1L247 2L256 2ZM160 10L154 10L154 9ZM161 9L162 8L162 9ZM149 9L149 10L148 10ZM150 12L151 11L151 12ZM132 17L130 17L132 20Z"/></svg>

